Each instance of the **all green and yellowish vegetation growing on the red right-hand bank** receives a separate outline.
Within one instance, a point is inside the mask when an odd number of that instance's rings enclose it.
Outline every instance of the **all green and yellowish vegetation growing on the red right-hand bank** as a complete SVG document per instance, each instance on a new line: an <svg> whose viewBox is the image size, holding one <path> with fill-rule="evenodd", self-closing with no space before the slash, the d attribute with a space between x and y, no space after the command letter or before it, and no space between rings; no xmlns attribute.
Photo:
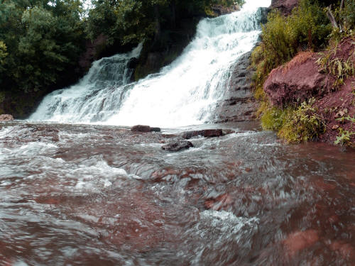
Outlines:
<svg viewBox="0 0 355 266"><path fill-rule="evenodd" d="M344 6L341 6L341 2ZM261 116L262 126L264 129L278 131L278 135L288 142L317 138L326 130L323 118L317 114L314 99L302 104L272 106L263 91L263 84L271 70L289 62L297 53L306 50L318 52L328 46L334 47L334 43L342 38L354 35L355 1L336 1L332 3L337 6L336 9L328 7L329 4L327 1L301 0L287 17L278 11L271 11L268 23L263 26L261 45L258 45L251 57L256 70L253 78L255 97L261 101L258 115ZM307 52L303 55L307 55ZM330 62L329 57L323 56L320 65L337 76L338 83L344 82L344 77L354 76L351 62L341 62L334 58Z"/></svg>

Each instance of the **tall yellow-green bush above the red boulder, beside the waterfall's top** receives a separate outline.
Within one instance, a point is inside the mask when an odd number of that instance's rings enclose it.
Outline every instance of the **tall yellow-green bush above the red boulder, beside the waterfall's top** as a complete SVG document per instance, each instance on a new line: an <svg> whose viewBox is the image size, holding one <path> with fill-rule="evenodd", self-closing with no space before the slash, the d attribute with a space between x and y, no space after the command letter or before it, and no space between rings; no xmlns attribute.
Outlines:
<svg viewBox="0 0 355 266"><path fill-rule="evenodd" d="M290 16L284 17L272 11L268 23L263 26L262 43L251 57L256 69L254 82L261 87L275 67L291 60L300 50L324 47L332 27L325 13L315 2L301 0Z"/></svg>

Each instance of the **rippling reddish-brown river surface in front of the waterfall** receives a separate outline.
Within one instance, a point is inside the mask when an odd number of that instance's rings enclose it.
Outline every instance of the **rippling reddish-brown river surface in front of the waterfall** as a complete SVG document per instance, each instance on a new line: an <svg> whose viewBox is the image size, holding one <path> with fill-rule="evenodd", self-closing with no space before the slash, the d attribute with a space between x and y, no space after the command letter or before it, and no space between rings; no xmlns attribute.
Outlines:
<svg viewBox="0 0 355 266"><path fill-rule="evenodd" d="M354 150L258 123L179 153L189 127L0 128L0 265L354 265Z"/></svg>

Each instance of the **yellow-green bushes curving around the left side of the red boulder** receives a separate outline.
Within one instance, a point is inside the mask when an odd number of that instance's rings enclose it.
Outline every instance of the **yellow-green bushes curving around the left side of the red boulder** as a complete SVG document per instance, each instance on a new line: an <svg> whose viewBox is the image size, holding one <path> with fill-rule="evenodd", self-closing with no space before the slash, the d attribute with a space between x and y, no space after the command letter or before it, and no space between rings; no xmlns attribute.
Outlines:
<svg viewBox="0 0 355 266"><path fill-rule="evenodd" d="M278 109L269 103L263 91L263 83L271 70L290 62L297 53L299 61L311 55L310 52L302 51L324 48L331 32L332 26L318 2L301 0L288 17L282 16L278 11L269 14L268 23L263 26L261 45L251 55L251 62L256 70L253 76L254 97L261 101L257 114L262 114L262 126L266 130L278 131L280 138L289 143L312 140L324 132L322 118L312 107L315 100L304 102L298 107L286 106L285 109ZM293 63L295 62L290 62Z"/></svg>

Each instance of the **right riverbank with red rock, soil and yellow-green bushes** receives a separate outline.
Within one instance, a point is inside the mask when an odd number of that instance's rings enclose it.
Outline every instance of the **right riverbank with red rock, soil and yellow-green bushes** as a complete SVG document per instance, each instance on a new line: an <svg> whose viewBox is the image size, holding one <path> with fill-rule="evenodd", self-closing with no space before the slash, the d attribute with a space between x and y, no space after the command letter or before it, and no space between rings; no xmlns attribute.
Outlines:
<svg viewBox="0 0 355 266"><path fill-rule="evenodd" d="M325 12L307 0L273 1L263 40L253 50L257 115L263 128L288 143L354 147L355 21L347 15L354 4L343 4ZM333 12L340 26L327 18Z"/></svg>

